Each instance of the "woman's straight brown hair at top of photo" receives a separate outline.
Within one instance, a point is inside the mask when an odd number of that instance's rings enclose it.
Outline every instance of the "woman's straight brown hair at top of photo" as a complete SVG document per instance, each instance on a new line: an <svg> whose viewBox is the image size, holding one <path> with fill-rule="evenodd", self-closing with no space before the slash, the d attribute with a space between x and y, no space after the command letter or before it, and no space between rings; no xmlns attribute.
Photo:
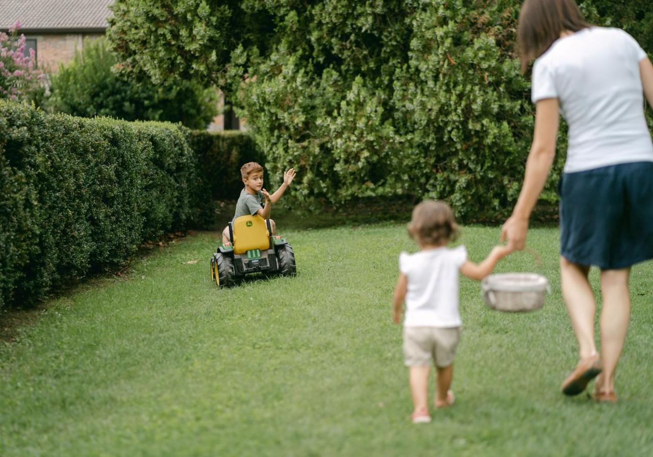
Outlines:
<svg viewBox="0 0 653 457"><path fill-rule="evenodd" d="M517 48L522 73L528 63L547 52L564 31L590 27L573 0L526 0L519 12Z"/></svg>

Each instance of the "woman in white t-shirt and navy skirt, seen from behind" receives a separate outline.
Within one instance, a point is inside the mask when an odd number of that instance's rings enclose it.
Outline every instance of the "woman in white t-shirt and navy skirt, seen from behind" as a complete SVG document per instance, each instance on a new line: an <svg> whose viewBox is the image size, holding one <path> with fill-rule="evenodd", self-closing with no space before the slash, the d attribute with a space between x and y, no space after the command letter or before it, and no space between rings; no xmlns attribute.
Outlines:
<svg viewBox="0 0 653 457"><path fill-rule="evenodd" d="M628 33L584 22L573 0L526 0L518 24L522 71L535 58L533 143L524 184L502 240L520 250L528 218L552 164L558 113L569 125L560 193L562 295L579 344L579 362L562 383L616 402L614 371L630 319L628 277L653 259L653 144L644 95L653 105L653 65ZM601 356L594 341L596 302L588 272L601 270Z"/></svg>

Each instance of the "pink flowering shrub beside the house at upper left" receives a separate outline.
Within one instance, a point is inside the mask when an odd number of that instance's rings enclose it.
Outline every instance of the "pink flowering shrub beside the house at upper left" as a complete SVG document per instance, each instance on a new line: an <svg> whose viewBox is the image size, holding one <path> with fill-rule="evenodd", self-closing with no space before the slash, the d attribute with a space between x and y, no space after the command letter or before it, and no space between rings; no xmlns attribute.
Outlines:
<svg viewBox="0 0 653 457"><path fill-rule="evenodd" d="M25 55L25 35L18 37L20 22L0 32L0 99L37 101L44 93L46 74L36 65L33 49Z"/></svg>

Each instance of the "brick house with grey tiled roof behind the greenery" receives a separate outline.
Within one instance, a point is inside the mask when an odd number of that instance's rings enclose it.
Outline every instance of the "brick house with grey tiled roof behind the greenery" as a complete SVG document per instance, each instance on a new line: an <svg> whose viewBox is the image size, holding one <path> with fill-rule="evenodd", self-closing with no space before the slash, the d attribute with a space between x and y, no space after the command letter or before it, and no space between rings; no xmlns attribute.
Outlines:
<svg viewBox="0 0 653 457"><path fill-rule="evenodd" d="M84 40L97 39L106 33L113 0L0 0L0 31L20 22L19 33L25 35L27 48L36 52L37 63L50 72L71 61ZM222 97L221 97L222 99ZM221 103L223 101L221 100ZM208 127L211 131L240 129L238 118L220 114Z"/></svg>

